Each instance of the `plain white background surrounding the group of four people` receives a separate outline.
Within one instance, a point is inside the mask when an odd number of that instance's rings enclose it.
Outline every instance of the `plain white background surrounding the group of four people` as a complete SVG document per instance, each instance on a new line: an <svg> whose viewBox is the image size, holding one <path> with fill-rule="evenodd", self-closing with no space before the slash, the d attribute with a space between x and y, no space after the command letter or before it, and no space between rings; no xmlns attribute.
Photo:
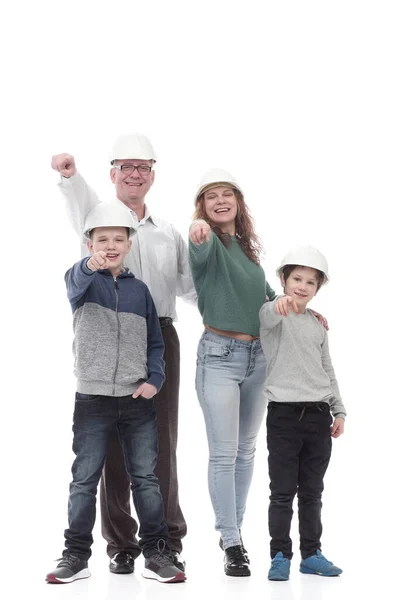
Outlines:
<svg viewBox="0 0 403 600"><path fill-rule="evenodd" d="M394 590L402 541L401 2L25 0L2 9L0 29L5 597L328 600ZM295 523L291 580L267 581L264 426L243 528L252 577L224 576L194 391L202 323L178 302L188 581L145 581L142 559L135 576L109 575L97 522L93 577L44 583L66 526L75 381L63 275L79 258L50 159L74 154L107 199L110 145L136 130L159 158L150 208L184 236L199 180L221 167L244 189L272 287L279 291L275 268L296 243L328 258L331 281L312 307L328 318L348 411L323 509L323 550L344 569L338 579L299 574Z"/></svg>

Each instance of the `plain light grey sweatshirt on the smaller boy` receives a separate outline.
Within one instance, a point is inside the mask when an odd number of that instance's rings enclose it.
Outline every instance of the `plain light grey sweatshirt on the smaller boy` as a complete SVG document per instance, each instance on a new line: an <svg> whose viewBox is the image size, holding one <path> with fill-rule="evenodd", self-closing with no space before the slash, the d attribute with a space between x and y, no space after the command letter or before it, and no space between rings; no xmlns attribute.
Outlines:
<svg viewBox="0 0 403 600"><path fill-rule="evenodd" d="M328 402L333 416L344 418L326 329L309 309L283 317L275 304L266 302L259 312L268 401Z"/></svg>

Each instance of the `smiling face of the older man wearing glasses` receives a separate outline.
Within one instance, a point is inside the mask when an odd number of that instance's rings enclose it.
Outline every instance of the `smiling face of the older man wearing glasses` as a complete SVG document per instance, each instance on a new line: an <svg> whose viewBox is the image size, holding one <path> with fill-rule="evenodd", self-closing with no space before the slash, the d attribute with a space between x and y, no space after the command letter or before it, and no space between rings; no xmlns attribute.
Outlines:
<svg viewBox="0 0 403 600"><path fill-rule="evenodd" d="M116 165L133 165L139 167L141 165L152 167L154 161L140 159L125 159L115 161ZM155 171L143 173L138 169L133 173L126 174L124 171L112 167L111 180L115 184L116 195L129 208L144 204L144 197L154 183Z"/></svg>

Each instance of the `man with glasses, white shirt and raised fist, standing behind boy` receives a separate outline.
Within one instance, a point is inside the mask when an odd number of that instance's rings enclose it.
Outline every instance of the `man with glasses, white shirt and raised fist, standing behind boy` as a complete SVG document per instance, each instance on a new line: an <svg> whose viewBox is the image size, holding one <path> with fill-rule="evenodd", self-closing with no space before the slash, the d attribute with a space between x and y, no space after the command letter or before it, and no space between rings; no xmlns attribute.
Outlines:
<svg viewBox="0 0 403 600"><path fill-rule="evenodd" d="M120 136L110 155L110 177L117 201L127 206L133 219L135 235L125 265L150 289L157 308L165 344L165 376L161 391L155 396L159 454L155 474L159 479L164 502L169 544L175 565L185 570L181 557L186 522L178 498L176 446L179 403L179 339L176 319L176 296L196 301L190 274L187 247L179 232L166 221L151 214L145 197L155 177L156 155L149 139L141 134ZM74 157L58 154L52 168L61 175L60 190L67 200L71 224L83 241L85 218L100 201L77 172ZM88 254L82 246L82 256ZM132 573L134 559L140 554L136 538L137 522L130 513L130 482L126 473L118 435L111 440L101 478L102 535L107 540L112 573Z"/></svg>

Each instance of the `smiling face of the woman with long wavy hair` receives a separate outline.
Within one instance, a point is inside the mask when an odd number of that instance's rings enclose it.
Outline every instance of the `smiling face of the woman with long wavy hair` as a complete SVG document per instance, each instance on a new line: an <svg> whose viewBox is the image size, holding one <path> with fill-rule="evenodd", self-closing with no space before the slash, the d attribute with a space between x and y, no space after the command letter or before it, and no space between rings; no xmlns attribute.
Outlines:
<svg viewBox="0 0 403 600"><path fill-rule="evenodd" d="M204 192L201 200L210 224L220 227L224 233L235 235L235 219L238 202L235 191L227 185L215 185Z"/></svg>

